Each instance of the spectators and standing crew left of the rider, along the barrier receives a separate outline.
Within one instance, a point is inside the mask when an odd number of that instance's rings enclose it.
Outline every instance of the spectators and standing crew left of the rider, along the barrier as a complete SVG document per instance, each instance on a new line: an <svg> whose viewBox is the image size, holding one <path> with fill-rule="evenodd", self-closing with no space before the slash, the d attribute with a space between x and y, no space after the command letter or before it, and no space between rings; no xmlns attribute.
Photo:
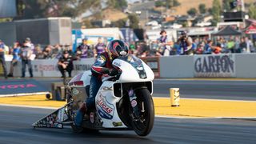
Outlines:
<svg viewBox="0 0 256 144"><path fill-rule="evenodd" d="M84 38L81 45L79 45L74 51L70 45L56 44L54 46L48 45L42 48L42 46L34 46L30 38L26 38L24 42L14 42L14 46L6 46L2 40L0 40L0 64L4 77L13 77L14 66L18 62L22 62L22 77L26 77L26 66L30 73L30 78L33 78L33 69L31 61L34 59L58 59L58 69L60 70L62 77L64 70L66 70L71 77L71 71L73 70L72 62L82 58L96 58L98 54L106 50L106 44L102 38L98 38L98 43L95 46L88 44L88 39ZM12 55L9 74L6 70L5 55Z"/></svg>

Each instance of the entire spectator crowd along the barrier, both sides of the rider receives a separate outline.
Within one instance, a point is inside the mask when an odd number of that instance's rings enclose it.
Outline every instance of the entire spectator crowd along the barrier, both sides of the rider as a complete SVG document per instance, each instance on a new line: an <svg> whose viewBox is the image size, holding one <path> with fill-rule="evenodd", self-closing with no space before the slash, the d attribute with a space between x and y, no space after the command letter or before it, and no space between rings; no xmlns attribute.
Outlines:
<svg viewBox="0 0 256 144"><path fill-rule="evenodd" d="M160 32L160 36L153 42L130 42L130 54L138 57L150 56L172 56L172 55L193 55L193 54L228 54L228 53L254 53L254 43L248 37L217 37L209 38L190 38L186 31L182 31L176 42L168 38L166 30ZM2 64L5 78L13 77L14 66L19 61L22 62L22 78L26 74L26 66L33 77L31 61L34 59L54 59L57 58L58 69L62 77L64 70L71 76L73 70L72 62L82 58L96 58L98 54L106 51L106 42L103 38L98 38L98 43L91 46L88 39L84 38L82 43L73 50L70 45L55 44L54 46L34 46L30 38L24 42L14 42L14 46L6 46L0 40L0 64ZM6 70L5 54L13 55L9 74Z"/></svg>

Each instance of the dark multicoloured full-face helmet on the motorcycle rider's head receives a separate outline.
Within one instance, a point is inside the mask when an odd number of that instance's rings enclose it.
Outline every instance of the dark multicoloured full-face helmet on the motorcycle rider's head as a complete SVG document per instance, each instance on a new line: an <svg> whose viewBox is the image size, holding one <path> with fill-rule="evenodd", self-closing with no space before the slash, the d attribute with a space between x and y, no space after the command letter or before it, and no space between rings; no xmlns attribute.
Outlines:
<svg viewBox="0 0 256 144"><path fill-rule="evenodd" d="M113 40L107 46L110 58L125 57L128 54L128 45L122 40Z"/></svg>

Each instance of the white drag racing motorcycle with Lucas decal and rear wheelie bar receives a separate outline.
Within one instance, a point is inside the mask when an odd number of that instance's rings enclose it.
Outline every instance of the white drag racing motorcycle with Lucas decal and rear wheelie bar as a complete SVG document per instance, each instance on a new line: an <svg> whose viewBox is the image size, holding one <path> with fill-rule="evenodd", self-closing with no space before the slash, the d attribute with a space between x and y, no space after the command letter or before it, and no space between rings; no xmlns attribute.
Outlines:
<svg viewBox="0 0 256 144"><path fill-rule="evenodd" d="M84 130L134 130L140 136L150 134L154 125L153 80L149 66L134 55L112 62L119 71L115 76L103 75L102 86L95 98L95 109L84 116ZM66 89L67 104L35 122L34 127L74 126L76 111L89 96L91 72L70 80Z"/></svg>

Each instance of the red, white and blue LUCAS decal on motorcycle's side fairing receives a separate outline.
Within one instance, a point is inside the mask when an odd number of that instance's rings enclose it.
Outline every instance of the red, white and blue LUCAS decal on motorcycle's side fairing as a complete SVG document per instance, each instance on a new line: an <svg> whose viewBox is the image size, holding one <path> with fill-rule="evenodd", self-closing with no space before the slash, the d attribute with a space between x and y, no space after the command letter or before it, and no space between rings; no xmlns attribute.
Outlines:
<svg viewBox="0 0 256 144"><path fill-rule="evenodd" d="M104 97L102 94L99 94L97 101L96 101L96 107L98 110L98 114L102 118L106 119L112 119L114 115L114 105L110 104L106 101L106 97Z"/></svg>

